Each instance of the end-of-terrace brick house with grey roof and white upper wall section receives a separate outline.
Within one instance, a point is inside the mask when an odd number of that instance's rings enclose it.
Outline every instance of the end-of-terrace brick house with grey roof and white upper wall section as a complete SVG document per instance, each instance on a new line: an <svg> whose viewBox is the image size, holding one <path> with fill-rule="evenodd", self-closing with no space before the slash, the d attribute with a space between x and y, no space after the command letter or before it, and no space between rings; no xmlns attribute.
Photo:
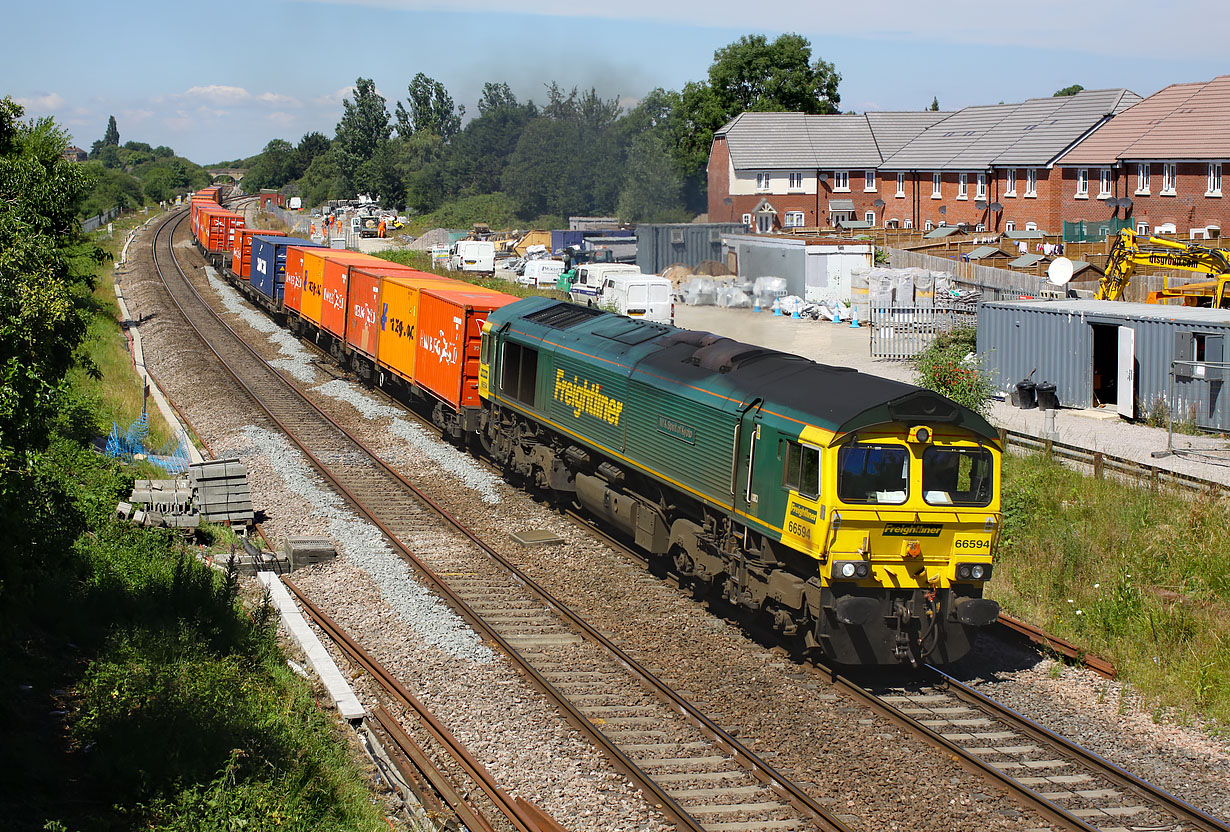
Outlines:
<svg viewBox="0 0 1230 832"><path fill-rule="evenodd" d="M708 220L763 233L841 220L879 225L888 199L878 176L884 154L947 114L742 113L713 134Z"/></svg>

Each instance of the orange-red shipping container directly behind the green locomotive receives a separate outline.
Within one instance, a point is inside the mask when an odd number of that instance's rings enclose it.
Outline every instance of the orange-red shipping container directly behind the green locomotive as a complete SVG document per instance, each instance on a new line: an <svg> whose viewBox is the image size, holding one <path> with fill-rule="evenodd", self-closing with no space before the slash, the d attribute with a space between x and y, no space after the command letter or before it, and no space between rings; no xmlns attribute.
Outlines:
<svg viewBox="0 0 1230 832"><path fill-rule="evenodd" d="M478 406L482 325L518 299L498 292L424 289L418 300L415 382L454 410Z"/></svg>

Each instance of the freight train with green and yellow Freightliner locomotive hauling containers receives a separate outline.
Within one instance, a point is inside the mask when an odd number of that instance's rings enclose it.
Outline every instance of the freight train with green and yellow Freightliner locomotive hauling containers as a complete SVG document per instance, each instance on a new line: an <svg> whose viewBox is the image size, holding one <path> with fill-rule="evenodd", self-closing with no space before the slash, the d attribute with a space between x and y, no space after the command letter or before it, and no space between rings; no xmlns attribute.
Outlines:
<svg viewBox="0 0 1230 832"><path fill-rule="evenodd" d="M250 279L229 277L292 331L784 639L845 665L947 663L996 619L1002 447L978 414L707 332L250 239Z"/></svg>

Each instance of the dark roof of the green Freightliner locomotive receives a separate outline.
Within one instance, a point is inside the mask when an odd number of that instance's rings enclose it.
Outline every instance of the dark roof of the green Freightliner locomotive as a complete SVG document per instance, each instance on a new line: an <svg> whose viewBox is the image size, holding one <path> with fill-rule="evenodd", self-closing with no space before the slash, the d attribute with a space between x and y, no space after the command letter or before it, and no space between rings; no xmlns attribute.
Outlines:
<svg viewBox="0 0 1230 832"><path fill-rule="evenodd" d="M978 414L940 394L849 367L743 343L710 332L681 330L545 298L506 306L498 318L519 318L549 330L547 340L588 342L631 373L668 379L749 405L790 410L809 423L849 433L886 422L961 425L989 439L999 433ZM529 329L529 327L526 327ZM556 330L551 337L550 330ZM788 414L787 414L788 415Z"/></svg>

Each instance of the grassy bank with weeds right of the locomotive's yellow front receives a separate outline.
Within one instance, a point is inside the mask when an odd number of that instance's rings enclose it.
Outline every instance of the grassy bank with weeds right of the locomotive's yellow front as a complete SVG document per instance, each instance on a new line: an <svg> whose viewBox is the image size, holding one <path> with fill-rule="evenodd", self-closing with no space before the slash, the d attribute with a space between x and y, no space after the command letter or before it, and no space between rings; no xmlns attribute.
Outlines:
<svg viewBox="0 0 1230 832"><path fill-rule="evenodd" d="M1160 708L1230 725L1230 505L1005 455L989 592L1106 656Z"/></svg>

